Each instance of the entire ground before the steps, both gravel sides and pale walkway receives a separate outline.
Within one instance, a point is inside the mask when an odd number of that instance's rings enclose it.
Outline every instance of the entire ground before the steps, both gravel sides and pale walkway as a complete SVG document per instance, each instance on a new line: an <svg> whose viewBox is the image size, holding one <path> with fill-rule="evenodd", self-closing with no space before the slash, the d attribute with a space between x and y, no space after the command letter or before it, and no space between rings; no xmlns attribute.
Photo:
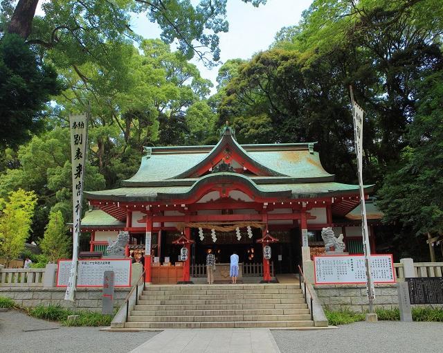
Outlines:
<svg viewBox="0 0 443 353"><path fill-rule="evenodd" d="M440 353L443 352L442 332L443 323L395 321L354 323L338 329L310 331L178 329L160 334L102 332L98 327L63 327L17 311L0 312L1 353Z"/></svg>

